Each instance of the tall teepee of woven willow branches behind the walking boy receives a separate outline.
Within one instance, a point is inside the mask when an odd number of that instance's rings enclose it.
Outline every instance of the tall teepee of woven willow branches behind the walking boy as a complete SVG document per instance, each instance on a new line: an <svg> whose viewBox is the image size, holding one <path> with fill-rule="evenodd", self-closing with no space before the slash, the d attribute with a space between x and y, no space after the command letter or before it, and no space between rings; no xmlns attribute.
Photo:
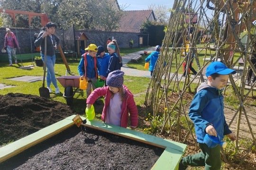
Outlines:
<svg viewBox="0 0 256 170"><path fill-rule="evenodd" d="M185 101L184 95L187 92L195 92L198 85L206 81L205 68L212 60L218 59L229 68L237 67L242 60L244 69L240 76L236 74L236 77L230 76L229 79L230 89L236 94L239 107L233 119L227 123L230 126L234 123L233 120L237 120L234 133L239 140L240 119L242 115L245 116L252 136L252 144L248 152L253 145L256 146L247 108L244 107L248 95L253 93L256 85L254 83L251 89L245 90L248 66L251 66L256 74L256 69L250 60L251 47L256 40L255 20L256 0L174 1L161 54L150 80L145 102L152 109L154 117L162 114L164 118L162 132L166 129L172 131L175 124L173 122L177 122L175 128L179 129L178 122L181 116L184 116L190 126L187 136L192 135L192 124L187 115L188 108L184 107L184 103L191 101ZM235 54L239 57L234 57ZM187 76L182 77L178 72L183 70L184 62L189 65L192 56L194 56L193 67L198 73L192 77L186 69ZM172 96L173 98L178 96L175 102L169 102L168 99ZM165 111L160 111L163 107ZM181 139L181 136L179 137ZM186 140L186 137L183 139ZM238 141L236 147L238 148Z"/></svg>

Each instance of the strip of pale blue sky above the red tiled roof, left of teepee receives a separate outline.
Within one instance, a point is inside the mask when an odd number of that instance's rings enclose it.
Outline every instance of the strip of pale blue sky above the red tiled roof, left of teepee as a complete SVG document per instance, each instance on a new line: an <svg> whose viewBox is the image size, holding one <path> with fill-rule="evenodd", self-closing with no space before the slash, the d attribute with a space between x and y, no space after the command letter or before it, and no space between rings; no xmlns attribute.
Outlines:
<svg viewBox="0 0 256 170"><path fill-rule="evenodd" d="M118 0L119 6L126 4L128 8L124 10L145 10L151 4L165 5L167 8L173 8L174 0Z"/></svg>

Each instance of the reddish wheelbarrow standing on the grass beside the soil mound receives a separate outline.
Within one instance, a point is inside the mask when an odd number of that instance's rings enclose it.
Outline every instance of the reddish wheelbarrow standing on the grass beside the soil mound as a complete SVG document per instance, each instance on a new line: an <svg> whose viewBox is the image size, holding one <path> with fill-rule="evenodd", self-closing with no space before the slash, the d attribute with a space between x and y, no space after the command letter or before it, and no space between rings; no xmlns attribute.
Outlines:
<svg viewBox="0 0 256 170"><path fill-rule="evenodd" d="M68 106L72 105L75 93L81 93L81 95L83 96L83 90L79 88L80 76L60 76L56 78L65 88L63 97L66 99Z"/></svg>

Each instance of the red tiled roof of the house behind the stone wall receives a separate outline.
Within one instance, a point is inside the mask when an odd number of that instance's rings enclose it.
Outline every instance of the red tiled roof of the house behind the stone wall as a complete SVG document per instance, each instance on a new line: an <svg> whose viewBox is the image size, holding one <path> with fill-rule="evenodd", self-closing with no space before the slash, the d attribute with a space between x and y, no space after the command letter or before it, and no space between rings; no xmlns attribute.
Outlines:
<svg viewBox="0 0 256 170"><path fill-rule="evenodd" d="M115 30L125 33L140 33L140 28L147 20L155 20L153 10L130 10L123 11L124 14L120 18L120 27Z"/></svg>

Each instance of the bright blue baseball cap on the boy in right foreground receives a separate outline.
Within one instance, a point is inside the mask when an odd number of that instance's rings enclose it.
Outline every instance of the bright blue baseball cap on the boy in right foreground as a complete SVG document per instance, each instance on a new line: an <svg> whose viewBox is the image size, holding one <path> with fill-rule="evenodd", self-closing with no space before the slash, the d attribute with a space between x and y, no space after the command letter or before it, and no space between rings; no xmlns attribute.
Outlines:
<svg viewBox="0 0 256 170"><path fill-rule="evenodd" d="M225 64L219 61L215 61L210 63L210 65L206 68L206 73L205 75L211 76L214 73L218 73L220 75L229 75L229 74L236 74L236 70L227 68Z"/></svg>

